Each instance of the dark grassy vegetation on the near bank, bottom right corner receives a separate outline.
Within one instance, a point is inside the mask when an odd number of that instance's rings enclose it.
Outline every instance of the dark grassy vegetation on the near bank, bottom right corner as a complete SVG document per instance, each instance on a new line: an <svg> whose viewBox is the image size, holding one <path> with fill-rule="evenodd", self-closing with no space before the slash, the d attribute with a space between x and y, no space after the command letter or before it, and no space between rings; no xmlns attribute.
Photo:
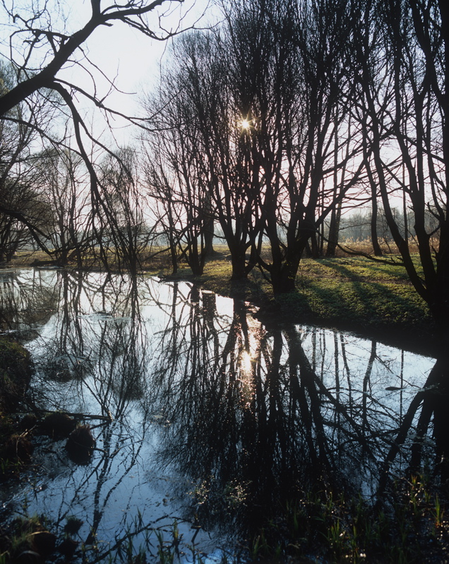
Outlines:
<svg viewBox="0 0 449 564"><path fill-rule="evenodd" d="M397 482L393 500L383 506L328 489L303 492L254 534L249 554L273 563L443 561L449 540L443 505L422 476Z"/></svg>

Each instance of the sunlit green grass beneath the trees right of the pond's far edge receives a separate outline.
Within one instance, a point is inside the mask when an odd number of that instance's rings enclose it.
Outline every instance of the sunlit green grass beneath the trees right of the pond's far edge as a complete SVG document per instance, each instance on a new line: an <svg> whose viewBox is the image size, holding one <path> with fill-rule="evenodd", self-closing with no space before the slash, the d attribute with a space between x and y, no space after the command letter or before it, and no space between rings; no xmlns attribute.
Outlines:
<svg viewBox="0 0 449 564"><path fill-rule="evenodd" d="M180 274L185 277L187 271ZM429 309L402 266L364 257L303 259L293 293L273 296L270 284L254 270L248 281L232 283L231 265L208 262L195 280L220 295L243 298L260 307L261 317L277 306L277 319L318 323L353 331L382 331L396 336L431 338ZM271 316L273 317L273 316Z"/></svg>

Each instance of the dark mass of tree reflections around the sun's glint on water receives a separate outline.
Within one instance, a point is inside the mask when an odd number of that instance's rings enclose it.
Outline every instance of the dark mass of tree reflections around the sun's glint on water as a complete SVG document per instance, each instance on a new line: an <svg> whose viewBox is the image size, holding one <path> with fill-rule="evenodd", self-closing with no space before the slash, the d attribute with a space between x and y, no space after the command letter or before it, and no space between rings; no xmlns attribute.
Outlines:
<svg viewBox="0 0 449 564"><path fill-rule="evenodd" d="M194 484L188 519L245 536L304 491L381 491L390 438L403 425L388 353L326 330L267 332L237 300L211 329L198 293L189 303L173 295L152 401L170 422L161 467ZM411 456L398 445L388 467L403 472Z"/></svg>

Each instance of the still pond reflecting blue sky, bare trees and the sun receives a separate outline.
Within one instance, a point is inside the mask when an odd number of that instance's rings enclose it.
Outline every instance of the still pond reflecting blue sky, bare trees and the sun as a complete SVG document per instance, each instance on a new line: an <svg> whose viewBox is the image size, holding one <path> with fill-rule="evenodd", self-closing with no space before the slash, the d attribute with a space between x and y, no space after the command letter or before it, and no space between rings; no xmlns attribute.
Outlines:
<svg viewBox="0 0 449 564"><path fill-rule="evenodd" d="M182 562L212 563L292 492L322 480L376 500L445 451L444 408L433 398L434 428L418 410L435 359L263 326L244 302L190 283L3 270L0 324L32 355L33 410L78 414L96 440L78 464L42 438L24 479L1 491L0 518L78 517L86 561L131 537L156 553L175 535Z"/></svg>

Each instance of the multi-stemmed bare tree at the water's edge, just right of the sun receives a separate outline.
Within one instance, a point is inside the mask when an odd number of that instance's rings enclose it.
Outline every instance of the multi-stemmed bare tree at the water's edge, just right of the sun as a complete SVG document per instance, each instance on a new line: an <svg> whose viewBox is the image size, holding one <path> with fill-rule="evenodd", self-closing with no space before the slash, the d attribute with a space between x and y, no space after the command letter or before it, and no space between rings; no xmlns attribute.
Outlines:
<svg viewBox="0 0 449 564"><path fill-rule="evenodd" d="M261 2L265 19L258 29L270 37L253 43L265 47L265 58L259 63L254 49L238 49L248 68L258 69L249 81L255 124L250 134L263 179L258 208L271 251L270 259L259 255L258 263L275 293L294 290L306 245L361 174L360 137L349 128L345 6L339 0ZM242 30L251 27L250 14L241 2L234 17L246 22ZM349 166L352 174L345 176Z"/></svg>

